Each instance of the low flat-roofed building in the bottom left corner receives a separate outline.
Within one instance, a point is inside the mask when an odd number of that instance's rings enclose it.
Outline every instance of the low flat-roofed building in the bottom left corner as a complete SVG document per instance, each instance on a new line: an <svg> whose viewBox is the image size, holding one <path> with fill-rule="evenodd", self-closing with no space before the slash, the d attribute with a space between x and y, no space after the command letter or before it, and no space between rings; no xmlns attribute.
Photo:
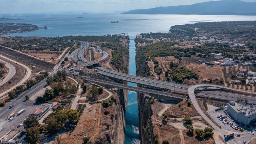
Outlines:
<svg viewBox="0 0 256 144"><path fill-rule="evenodd" d="M0 138L0 143L1 144L18 144L21 140L24 139L25 133L26 132L12 129Z"/></svg>

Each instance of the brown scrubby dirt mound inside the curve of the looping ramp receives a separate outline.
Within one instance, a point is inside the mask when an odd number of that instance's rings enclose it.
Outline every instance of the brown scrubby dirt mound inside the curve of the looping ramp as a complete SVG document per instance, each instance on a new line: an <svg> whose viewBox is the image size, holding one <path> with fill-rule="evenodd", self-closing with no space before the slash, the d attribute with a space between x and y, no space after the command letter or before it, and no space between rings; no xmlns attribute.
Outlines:
<svg viewBox="0 0 256 144"><path fill-rule="evenodd" d="M190 100L188 101L191 103ZM190 107L188 107L188 101L183 100L180 103L171 106L171 108L167 109L164 113L166 113L168 117L173 118L185 117L187 115L189 115L190 117L199 116L192 103Z"/></svg>

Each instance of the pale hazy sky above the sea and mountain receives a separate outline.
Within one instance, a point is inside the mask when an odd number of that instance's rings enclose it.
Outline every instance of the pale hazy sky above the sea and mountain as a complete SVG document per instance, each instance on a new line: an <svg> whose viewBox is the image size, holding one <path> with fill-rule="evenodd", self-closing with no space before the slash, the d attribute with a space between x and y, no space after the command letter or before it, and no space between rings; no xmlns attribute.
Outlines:
<svg viewBox="0 0 256 144"><path fill-rule="evenodd" d="M213 0L0 0L3 13L114 12ZM256 2L256 0L243 0Z"/></svg>

